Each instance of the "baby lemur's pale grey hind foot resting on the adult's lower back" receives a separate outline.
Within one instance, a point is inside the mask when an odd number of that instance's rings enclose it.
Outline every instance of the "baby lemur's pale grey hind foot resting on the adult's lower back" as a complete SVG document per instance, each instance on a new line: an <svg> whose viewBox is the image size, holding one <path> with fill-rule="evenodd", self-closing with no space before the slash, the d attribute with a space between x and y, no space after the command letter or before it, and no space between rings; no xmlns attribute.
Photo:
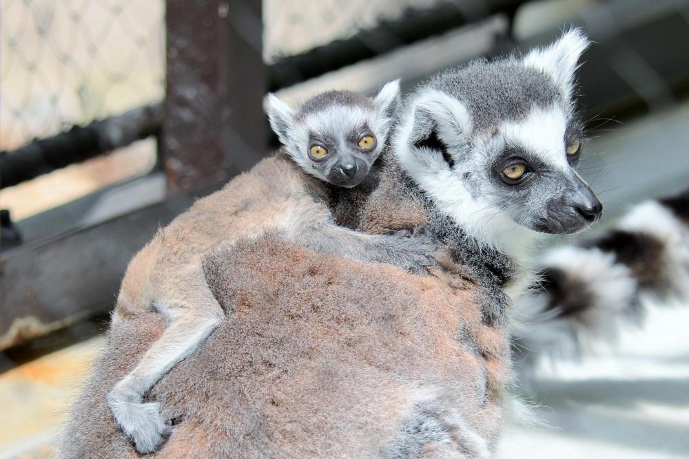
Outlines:
<svg viewBox="0 0 689 459"><path fill-rule="evenodd" d="M163 422L160 403L126 401L108 394L107 404L122 431L132 439L136 451L152 453L169 434L171 427Z"/></svg>

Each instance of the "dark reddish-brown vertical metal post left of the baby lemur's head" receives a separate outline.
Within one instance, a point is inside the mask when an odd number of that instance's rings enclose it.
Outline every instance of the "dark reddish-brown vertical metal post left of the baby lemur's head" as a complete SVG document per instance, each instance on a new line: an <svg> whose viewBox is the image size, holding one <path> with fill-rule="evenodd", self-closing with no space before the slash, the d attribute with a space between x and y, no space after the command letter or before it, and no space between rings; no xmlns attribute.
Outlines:
<svg viewBox="0 0 689 459"><path fill-rule="evenodd" d="M249 169L267 151L260 0L167 0L161 151L169 189Z"/></svg>

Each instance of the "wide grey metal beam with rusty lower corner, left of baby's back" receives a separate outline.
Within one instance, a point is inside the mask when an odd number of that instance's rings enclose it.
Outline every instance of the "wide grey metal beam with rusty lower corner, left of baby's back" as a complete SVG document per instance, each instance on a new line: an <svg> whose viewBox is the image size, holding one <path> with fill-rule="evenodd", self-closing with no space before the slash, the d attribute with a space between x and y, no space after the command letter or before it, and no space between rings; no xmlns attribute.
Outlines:
<svg viewBox="0 0 689 459"><path fill-rule="evenodd" d="M192 195L0 254L0 350L114 304L130 259Z"/></svg>

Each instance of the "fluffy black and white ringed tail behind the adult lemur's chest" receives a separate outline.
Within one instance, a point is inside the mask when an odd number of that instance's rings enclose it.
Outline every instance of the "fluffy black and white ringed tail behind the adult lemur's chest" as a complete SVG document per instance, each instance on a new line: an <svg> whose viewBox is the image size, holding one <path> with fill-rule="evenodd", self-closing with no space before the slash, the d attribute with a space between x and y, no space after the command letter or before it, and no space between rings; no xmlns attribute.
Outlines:
<svg viewBox="0 0 689 459"><path fill-rule="evenodd" d="M613 228L548 250L540 282L517 301L517 365L614 343L644 317L644 300L689 299L689 190L634 206Z"/></svg>

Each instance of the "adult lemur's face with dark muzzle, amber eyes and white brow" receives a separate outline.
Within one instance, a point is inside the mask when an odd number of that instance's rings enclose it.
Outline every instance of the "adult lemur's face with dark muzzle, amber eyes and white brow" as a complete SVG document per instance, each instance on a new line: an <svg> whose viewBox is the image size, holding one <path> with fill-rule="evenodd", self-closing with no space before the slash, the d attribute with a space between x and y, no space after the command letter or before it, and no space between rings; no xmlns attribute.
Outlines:
<svg viewBox="0 0 689 459"><path fill-rule="evenodd" d="M473 161L464 163L473 168L469 183L480 200L495 203L517 224L539 233L576 233L603 210L575 170L583 142L581 125L565 107L532 107L523 120L476 134Z"/></svg>

